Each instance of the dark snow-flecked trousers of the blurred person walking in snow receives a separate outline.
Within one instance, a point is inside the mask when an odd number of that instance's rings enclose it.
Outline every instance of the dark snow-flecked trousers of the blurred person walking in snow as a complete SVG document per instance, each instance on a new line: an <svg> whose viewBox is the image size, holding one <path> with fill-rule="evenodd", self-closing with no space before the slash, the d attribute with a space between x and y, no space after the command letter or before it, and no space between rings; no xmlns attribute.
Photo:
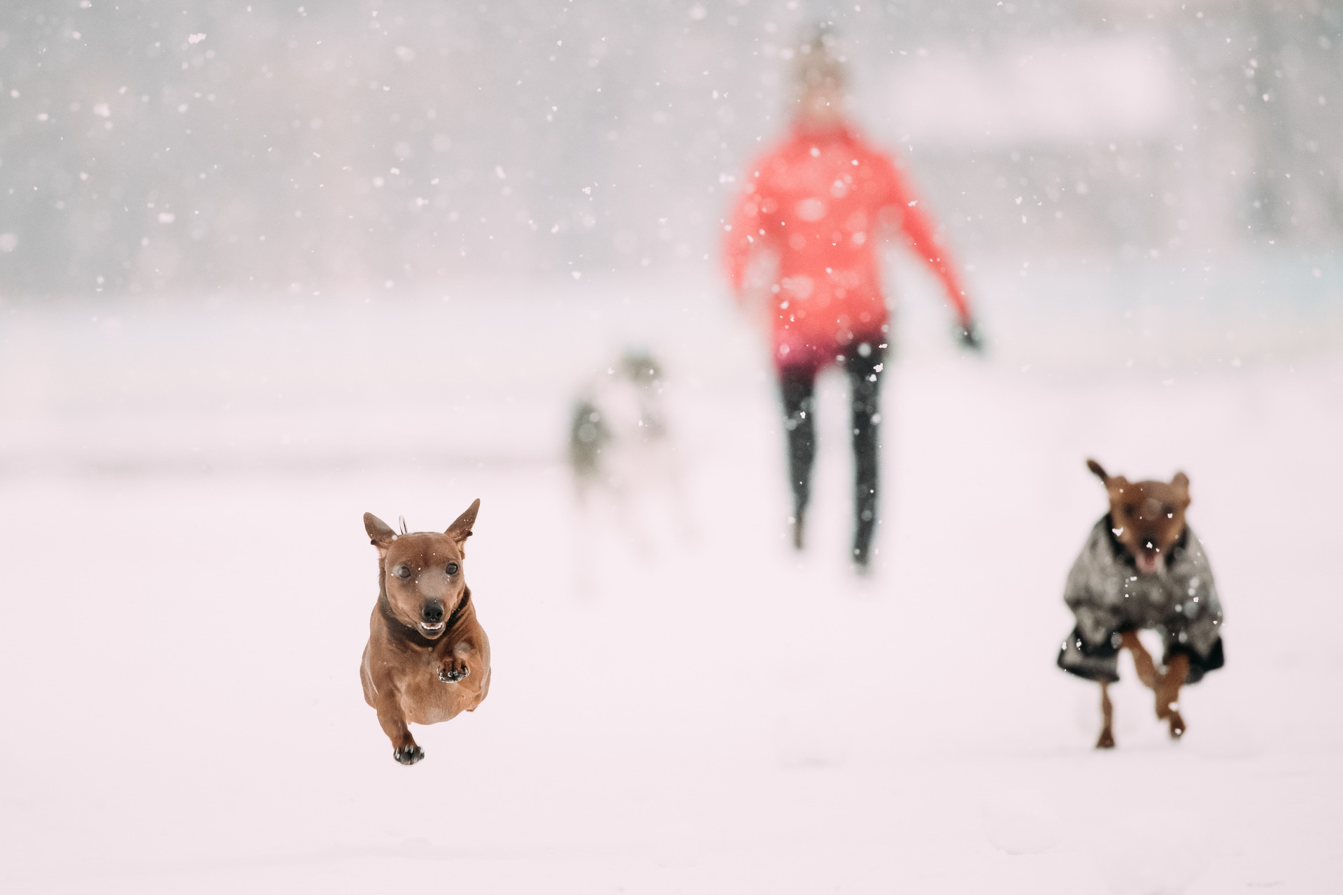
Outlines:
<svg viewBox="0 0 1343 895"><path fill-rule="evenodd" d="M869 346L866 354L862 354L862 345ZM877 526L877 452L881 447L877 397L881 389L884 356L885 349L876 341L850 345L843 354L853 408L850 425L854 459L853 553L864 562L868 560L872 533ZM786 366L779 370L786 417L783 427L788 432L788 480L792 484L792 509L799 518L811 499L811 466L817 458L814 421L817 372L814 366Z"/></svg>

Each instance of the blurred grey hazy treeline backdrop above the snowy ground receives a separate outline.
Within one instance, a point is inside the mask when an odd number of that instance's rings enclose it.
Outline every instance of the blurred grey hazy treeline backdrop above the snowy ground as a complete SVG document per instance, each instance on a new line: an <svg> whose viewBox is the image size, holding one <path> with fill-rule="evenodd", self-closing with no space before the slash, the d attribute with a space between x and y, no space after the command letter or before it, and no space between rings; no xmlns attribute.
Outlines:
<svg viewBox="0 0 1343 895"><path fill-rule="evenodd" d="M1335 3L9 0L0 295L702 266L817 20L962 254L1343 233ZM1138 102L1167 109L1136 130L901 121L900 97L936 103L958 71L939 59L991 79L1115 40L1152 59Z"/></svg>

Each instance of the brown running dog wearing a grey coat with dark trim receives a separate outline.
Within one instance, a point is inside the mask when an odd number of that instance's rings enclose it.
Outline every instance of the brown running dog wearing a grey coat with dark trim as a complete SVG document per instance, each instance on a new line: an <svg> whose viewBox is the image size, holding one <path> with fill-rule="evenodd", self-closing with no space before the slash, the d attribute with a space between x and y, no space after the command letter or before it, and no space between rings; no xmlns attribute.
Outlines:
<svg viewBox="0 0 1343 895"><path fill-rule="evenodd" d="M1139 680L1156 692L1156 718L1178 739L1185 734L1179 688L1223 664L1222 604L1203 545L1185 522L1189 476L1129 482L1096 460L1086 467L1105 483L1109 513L1068 573L1064 601L1077 624L1058 651L1058 667L1100 683L1096 747L1112 749L1109 684L1119 680L1119 651L1128 649ZM1138 639L1144 628L1162 637L1160 670Z"/></svg>

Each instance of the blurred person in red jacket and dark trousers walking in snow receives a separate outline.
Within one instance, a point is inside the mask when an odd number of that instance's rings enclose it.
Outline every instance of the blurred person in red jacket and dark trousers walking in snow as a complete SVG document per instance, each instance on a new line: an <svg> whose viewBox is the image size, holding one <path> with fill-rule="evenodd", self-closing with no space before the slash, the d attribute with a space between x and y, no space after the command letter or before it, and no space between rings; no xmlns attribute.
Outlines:
<svg viewBox="0 0 1343 895"><path fill-rule="evenodd" d="M760 295L748 271L768 259L774 279L757 309L770 330L783 397L792 486L792 543L802 549L815 459L815 380L831 364L850 384L854 452L853 562L866 572L877 523L878 393L889 315L878 247L902 236L941 282L960 342L980 341L964 286L937 229L889 154L846 114L845 59L825 30L795 63L796 111L783 141L749 168L725 228L728 279L739 303ZM764 283L760 283L764 286Z"/></svg>

